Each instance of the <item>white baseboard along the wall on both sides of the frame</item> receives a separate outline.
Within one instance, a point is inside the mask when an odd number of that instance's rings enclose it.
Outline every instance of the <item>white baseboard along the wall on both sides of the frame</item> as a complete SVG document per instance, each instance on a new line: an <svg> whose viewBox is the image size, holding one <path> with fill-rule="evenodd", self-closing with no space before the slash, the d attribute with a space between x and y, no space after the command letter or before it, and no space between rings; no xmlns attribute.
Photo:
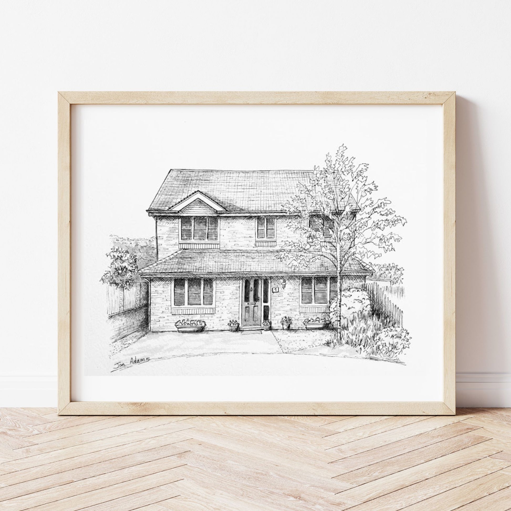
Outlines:
<svg viewBox="0 0 511 511"><path fill-rule="evenodd" d="M56 376L0 376L0 408L56 406ZM456 406L511 407L511 373L457 373Z"/></svg>

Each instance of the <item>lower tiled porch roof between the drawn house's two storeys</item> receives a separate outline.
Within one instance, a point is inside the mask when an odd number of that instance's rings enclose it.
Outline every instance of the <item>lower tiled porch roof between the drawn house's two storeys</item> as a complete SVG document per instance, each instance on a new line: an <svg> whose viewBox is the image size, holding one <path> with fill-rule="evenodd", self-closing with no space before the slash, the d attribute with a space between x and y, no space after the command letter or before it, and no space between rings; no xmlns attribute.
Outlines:
<svg viewBox="0 0 511 511"><path fill-rule="evenodd" d="M278 250L178 250L157 263L139 270L143 277L172 274L207 275L310 275L336 273L332 262L310 257L305 268L294 268L278 257ZM370 275L373 270L357 258L343 268L343 275Z"/></svg>

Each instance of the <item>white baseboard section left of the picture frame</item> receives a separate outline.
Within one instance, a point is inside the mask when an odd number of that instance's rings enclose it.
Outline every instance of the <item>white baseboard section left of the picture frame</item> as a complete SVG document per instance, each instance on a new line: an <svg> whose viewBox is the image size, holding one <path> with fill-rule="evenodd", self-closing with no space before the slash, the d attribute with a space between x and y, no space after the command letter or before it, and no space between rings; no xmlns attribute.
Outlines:
<svg viewBox="0 0 511 511"><path fill-rule="evenodd" d="M56 408L56 376L0 376L0 408Z"/></svg>

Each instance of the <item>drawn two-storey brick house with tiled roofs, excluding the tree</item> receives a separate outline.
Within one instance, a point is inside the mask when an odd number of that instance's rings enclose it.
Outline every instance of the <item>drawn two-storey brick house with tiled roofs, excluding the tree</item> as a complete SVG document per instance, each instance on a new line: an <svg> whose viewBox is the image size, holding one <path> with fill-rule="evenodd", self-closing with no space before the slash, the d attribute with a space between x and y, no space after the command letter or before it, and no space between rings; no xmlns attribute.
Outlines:
<svg viewBox="0 0 511 511"><path fill-rule="evenodd" d="M140 270L150 282L150 328L175 330L203 319L208 330L261 329L263 320L303 328L328 312L336 268L324 258L303 268L278 253L297 236L284 204L311 171L171 170L148 213L156 222L157 262ZM342 286L361 286L372 270L353 259Z"/></svg>

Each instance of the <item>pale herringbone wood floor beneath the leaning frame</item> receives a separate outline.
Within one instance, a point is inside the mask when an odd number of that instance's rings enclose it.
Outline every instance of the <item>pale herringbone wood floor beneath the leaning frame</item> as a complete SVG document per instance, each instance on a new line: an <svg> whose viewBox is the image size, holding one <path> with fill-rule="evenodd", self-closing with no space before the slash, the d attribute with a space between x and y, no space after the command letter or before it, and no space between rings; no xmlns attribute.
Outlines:
<svg viewBox="0 0 511 511"><path fill-rule="evenodd" d="M0 409L0 509L511 509L511 409L453 417Z"/></svg>

